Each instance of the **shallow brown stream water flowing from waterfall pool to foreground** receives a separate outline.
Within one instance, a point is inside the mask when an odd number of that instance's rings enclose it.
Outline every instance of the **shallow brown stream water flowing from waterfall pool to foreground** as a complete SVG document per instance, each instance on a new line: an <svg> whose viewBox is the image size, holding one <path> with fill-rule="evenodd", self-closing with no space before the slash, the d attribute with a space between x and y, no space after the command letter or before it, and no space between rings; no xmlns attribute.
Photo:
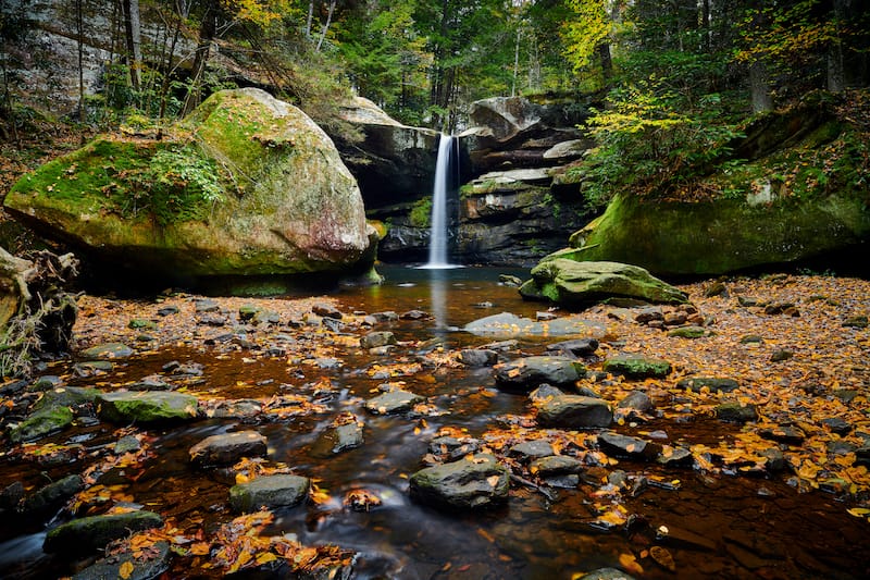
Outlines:
<svg viewBox="0 0 870 580"><path fill-rule="evenodd" d="M393 330L400 341L439 336L450 347L483 344L488 338L453 328L505 310L534 316L542 309L522 303L514 288L497 284L500 271L387 270L389 279L384 286L344 289L337 298L347 310L402 312L419 308L435 316L434 321L395 323ZM482 308L478 303L492 305ZM522 342L521 348L537 353L540 343ZM315 478L334 499L278 511L273 531L296 534L307 544L335 543L357 551L355 578L569 579L600 567L624 568L626 556L642 566L643 571L634 570L642 578L865 578L870 571L867 522L846 514L847 506L832 495L798 494L784 478L710 477L691 469L620 461L619 468L630 476L679 479L680 486L650 486L626 498L624 508L634 515L631 525L612 530L588 525L594 489L587 486L557 490L555 501L527 486L514 486L506 507L482 514L444 514L420 506L408 497L407 477L420 469L434 433L452 425L480 435L500 425L499 418L524 412L525 397L494 390L488 369L427 369L402 379L406 388L425 395L445 415L373 417L362 409L378 382L364 372L373 360L352 349L341 359L343 368L316 373L332 383L325 394L322 385L314 394L319 388L315 377L289 374L283 358L246 362L241 354L215 358L208 349L161 350L136 357L100 381L124 382L158 372L169 360L189 360L204 366L202 383L190 387L195 393L220 386L227 398L288 390L311 394L324 405L324 412L253 428L268 437L270 460L284 461L296 472ZM63 365L51 372L62 370ZM92 381L78 379L71 384ZM323 435L336 414L345 410L364 418L365 443L334 455ZM119 472L115 481L137 504L174 518L183 530L185 526L213 529L232 518L226 506L228 483L215 472L191 468L187 449L204 436L251 427L237 419L210 419L151 430L154 455L146 469ZM662 421L647 428L662 429L672 442L687 443L717 441L734 430L713 420L691 424ZM65 443L75 437L80 442L84 457L75 465L84 469L90 452L116 439L114 429L101 423L51 441ZM69 471L69 464L40 466L3 459L0 485L15 480L33 485ZM383 505L368 513L344 509L341 497L358 488L377 493ZM668 527L668 538L657 538L660 526ZM0 577L52 578L72 572L67 563L41 553L41 522L0 522ZM675 572L642 557L652 545L670 551ZM176 562L169 576L188 577L184 563Z"/></svg>

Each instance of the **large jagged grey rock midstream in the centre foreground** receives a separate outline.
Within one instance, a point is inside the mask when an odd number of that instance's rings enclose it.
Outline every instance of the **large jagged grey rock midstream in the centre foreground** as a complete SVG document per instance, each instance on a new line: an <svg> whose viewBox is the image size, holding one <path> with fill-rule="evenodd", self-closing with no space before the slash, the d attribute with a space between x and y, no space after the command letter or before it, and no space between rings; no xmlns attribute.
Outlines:
<svg viewBox="0 0 870 580"><path fill-rule="evenodd" d="M447 509L482 509L508 501L510 473L495 457L478 454L421 469L410 480L411 497Z"/></svg>

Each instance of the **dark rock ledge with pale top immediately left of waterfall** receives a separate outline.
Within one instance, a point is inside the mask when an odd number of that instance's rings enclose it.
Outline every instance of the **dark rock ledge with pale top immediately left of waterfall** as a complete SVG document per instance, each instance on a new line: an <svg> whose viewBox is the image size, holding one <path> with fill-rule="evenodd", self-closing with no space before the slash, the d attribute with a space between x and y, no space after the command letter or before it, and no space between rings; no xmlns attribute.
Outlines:
<svg viewBox="0 0 870 580"><path fill-rule="evenodd" d="M363 97L344 103L339 115L362 134L355 143L337 136L336 145L366 208L432 192L438 132L402 125Z"/></svg>

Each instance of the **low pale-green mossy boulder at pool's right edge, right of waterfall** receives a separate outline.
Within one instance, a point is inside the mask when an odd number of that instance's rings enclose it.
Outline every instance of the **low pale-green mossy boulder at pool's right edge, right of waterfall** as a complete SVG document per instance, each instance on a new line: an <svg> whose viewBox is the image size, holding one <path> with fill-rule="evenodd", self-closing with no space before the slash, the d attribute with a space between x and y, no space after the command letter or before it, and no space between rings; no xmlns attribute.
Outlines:
<svg viewBox="0 0 870 580"><path fill-rule="evenodd" d="M636 299L682 304L685 293L643 268L617 262L579 262L547 257L532 269L532 280L520 287L523 298L564 306L586 306L604 299Z"/></svg>

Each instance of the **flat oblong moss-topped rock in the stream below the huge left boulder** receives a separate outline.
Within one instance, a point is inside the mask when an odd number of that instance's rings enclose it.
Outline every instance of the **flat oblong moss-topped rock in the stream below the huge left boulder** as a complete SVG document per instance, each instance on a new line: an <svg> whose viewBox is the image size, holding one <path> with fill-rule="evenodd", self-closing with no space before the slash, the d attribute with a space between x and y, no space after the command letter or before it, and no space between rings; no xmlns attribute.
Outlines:
<svg viewBox="0 0 870 580"><path fill-rule="evenodd" d="M115 392L97 397L100 418L120 423L153 423L197 417L197 397L174 392Z"/></svg>

